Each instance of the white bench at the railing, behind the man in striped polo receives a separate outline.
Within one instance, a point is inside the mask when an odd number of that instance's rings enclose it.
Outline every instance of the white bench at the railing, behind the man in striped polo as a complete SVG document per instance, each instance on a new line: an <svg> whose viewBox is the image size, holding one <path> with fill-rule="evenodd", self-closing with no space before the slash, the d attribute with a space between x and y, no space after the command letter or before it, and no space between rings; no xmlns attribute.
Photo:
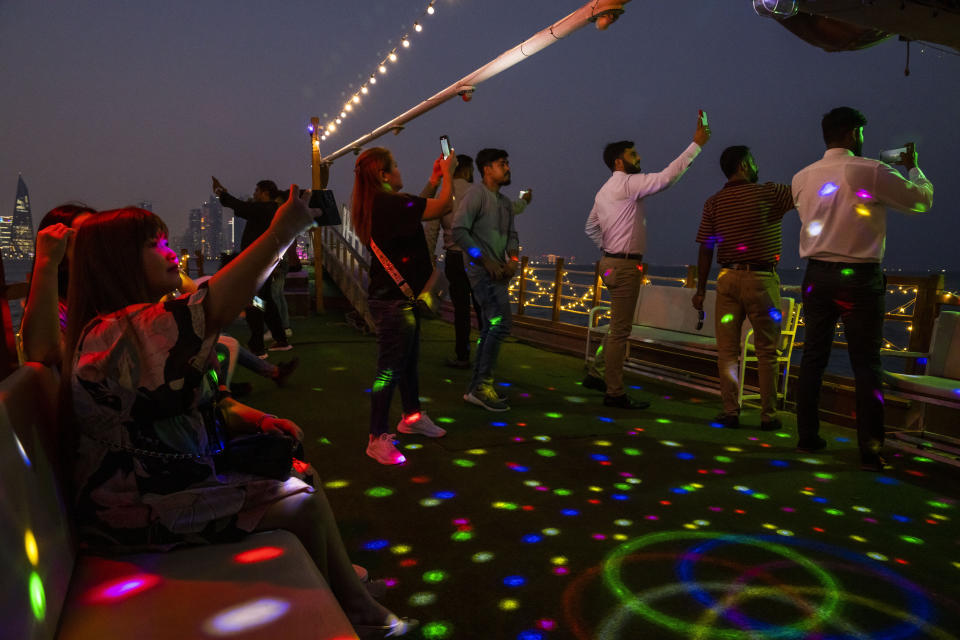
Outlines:
<svg viewBox="0 0 960 640"><path fill-rule="evenodd" d="M691 304L693 289L664 285L644 285L633 314L633 327L627 340L624 369L662 382L719 393L717 373L717 339L713 318L717 293L708 290L704 297L705 317L697 328L699 316ZM781 297L781 344L778 348L778 397L785 398L790 356L796 338L800 305L793 298ZM594 358L596 343L609 331L609 325L598 325L599 316L610 310L609 305L598 305L590 310L587 319L587 340L584 361ZM740 355L741 399L758 398L758 389L745 388L745 366L755 361L753 330L750 321L743 323ZM676 356L682 356L676 358ZM674 364L673 360L676 359ZM694 366L692 361L699 361ZM745 393L745 389L747 393Z"/></svg>

